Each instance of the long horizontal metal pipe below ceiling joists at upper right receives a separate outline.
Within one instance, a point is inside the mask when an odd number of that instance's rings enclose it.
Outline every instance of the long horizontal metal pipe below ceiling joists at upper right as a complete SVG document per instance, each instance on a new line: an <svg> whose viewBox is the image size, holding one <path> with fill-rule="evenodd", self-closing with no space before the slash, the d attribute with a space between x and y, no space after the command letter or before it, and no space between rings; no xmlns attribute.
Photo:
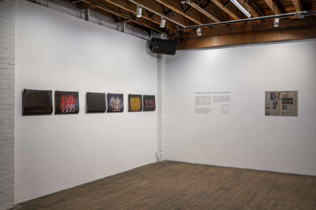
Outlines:
<svg viewBox="0 0 316 210"><path fill-rule="evenodd" d="M193 28L200 28L200 27L210 27L210 26L220 26L220 25L226 25L226 24L232 24L232 23L243 23L243 22L249 22L249 21L255 21L255 20L268 20L268 19L274 19L274 18L298 17L299 19L301 19L304 16L315 15L315 14L316 12L307 12L307 11L285 13L285 14L275 14L275 15L269 15L269 16L263 16L263 17L256 17L256 18L230 20L230 21L224 21L224 22L219 22L219 23L209 23L209 24L203 24L203 25L189 26L189 27L179 28L178 30L193 29Z"/></svg>

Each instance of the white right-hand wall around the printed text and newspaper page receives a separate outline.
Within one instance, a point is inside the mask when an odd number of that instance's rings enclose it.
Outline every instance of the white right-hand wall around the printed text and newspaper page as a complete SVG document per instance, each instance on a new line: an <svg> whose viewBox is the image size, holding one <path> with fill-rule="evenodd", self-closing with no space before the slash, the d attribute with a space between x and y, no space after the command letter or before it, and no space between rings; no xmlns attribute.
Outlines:
<svg viewBox="0 0 316 210"><path fill-rule="evenodd" d="M167 160L316 175L315 58L315 40L168 56ZM298 90L298 117L264 116L273 90ZM230 113L195 114L206 91L229 91Z"/></svg>

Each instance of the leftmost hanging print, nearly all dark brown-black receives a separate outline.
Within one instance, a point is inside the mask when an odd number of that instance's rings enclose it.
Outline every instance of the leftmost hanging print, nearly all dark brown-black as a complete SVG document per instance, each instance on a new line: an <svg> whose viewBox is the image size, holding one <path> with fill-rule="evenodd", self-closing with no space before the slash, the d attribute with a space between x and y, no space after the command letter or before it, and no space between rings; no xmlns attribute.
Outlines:
<svg viewBox="0 0 316 210"><path fill-rule="evenodd" d="M27 90L22 92L22 116L51 115L53 98L51 90Z"/></svg>

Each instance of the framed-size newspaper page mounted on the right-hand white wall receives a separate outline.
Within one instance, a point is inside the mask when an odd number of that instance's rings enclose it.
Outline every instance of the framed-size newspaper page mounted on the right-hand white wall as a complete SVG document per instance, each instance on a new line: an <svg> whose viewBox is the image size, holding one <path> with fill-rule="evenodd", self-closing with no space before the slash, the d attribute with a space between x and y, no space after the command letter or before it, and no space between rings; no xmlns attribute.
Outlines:
<svg viewBox="0 0 316 210"><path fill-rule="evenodd" d="M265 91L265 116L298 116L298 91Z"/></svg>

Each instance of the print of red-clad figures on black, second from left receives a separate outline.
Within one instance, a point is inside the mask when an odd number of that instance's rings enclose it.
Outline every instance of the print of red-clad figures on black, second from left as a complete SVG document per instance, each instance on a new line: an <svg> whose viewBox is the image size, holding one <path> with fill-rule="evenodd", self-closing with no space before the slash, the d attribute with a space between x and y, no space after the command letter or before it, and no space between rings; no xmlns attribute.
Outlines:
<svg viewBox="0 0 316 210"><path fill-rule="evenodd" d="M55 91L55 115L78 114L79 93L68 91Z"/></svg>

